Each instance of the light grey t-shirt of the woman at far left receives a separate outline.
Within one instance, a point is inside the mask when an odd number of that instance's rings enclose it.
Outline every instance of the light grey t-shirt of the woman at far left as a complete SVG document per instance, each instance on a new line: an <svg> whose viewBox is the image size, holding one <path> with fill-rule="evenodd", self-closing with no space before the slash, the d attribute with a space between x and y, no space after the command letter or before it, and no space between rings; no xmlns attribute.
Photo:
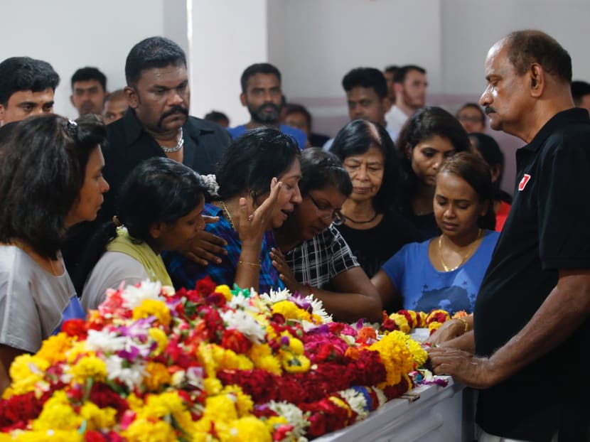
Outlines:
<svg viewBox="0 0 590 442"><path fill-rule="evenodd" d="M54 276L18 247L1 245L0 343L36 352L72 317L83 312L68 271Z"/></svg>

